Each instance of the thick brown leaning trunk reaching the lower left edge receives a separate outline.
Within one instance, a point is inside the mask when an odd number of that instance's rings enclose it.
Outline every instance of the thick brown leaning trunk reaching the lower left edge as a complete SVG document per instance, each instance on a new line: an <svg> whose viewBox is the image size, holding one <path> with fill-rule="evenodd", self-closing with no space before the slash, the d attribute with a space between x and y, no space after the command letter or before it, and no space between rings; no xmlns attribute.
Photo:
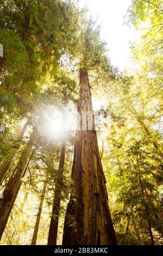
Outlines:
<svg viewBox="0 0 163 256"><path fill-rule="evenodd" d="M11 210L14 206L18 191L20 190L20 186L22 183L21 179L25 174L24 170L26 170L27 163L29 164L28 158L30 153L32 152L33 136L34 132L30 136L28 144L23 150L20 160L17 163L14 176L10 178L3 192L3 200L0 206L0 240L2 238L5 226L7 225Z"/></svg>

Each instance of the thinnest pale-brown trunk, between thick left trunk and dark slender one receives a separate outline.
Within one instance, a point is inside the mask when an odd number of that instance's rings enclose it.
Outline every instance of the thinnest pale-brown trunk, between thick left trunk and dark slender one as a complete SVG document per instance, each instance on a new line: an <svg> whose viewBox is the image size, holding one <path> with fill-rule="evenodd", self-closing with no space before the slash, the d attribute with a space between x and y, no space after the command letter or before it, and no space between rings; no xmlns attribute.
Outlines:
<svg viewBox="0 0 163 256"><path fill-rule="evenodd" d="M38 235L38 231L39 231L40 218L41 218L41 212L42 212L42 205L43 205L43 200L44 200L45 192L46 192L46 185L47 185L47 181L45 181L43 184L43 190L42 190L42 194L40 197L39 210L37 212L37 218L36 218L36 222L35 222L35 228L34 228L31 245L36 245L37 235Z"/></svg>

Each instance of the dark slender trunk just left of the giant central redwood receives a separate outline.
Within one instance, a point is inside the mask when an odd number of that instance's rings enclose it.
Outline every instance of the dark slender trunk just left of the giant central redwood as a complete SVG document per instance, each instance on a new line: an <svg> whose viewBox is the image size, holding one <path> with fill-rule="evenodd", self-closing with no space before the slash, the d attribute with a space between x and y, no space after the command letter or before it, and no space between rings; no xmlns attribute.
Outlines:
<svg viewBox="0 0 163 256"><path fill-rule="evenodd" d="M66 149L66 143L62 142L60 160L59 160L59 179L56 181L55 190L54 190L52 217L51 217L51 224L49 228L47 245L57 245L58 220L59 220L61 185L62 185L61 177L64 170L65 149Z"/></svg>

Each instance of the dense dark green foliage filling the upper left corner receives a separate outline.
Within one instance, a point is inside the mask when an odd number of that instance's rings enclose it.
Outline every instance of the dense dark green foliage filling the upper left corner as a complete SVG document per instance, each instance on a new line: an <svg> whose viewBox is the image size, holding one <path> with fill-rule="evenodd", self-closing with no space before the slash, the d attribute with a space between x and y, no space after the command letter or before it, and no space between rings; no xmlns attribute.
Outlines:
<svg viewBox="0 0 163 256"><path fill-rule="evenodd" d="M1 88L7 95L4 106L10 105L12 97L13 111L17 107L20 114L28 112L39 100L45 79L55 80L57 73L61 73L61 56L73 56L76 52L79 15L75 12L75 5L64 1L2 1L0 42L4 57L0 60L0 77ZM66 95L72 83L62 83L67 86L62 86L59 94ZM8 109L11 111L8 106L4 111Z"/></svg>

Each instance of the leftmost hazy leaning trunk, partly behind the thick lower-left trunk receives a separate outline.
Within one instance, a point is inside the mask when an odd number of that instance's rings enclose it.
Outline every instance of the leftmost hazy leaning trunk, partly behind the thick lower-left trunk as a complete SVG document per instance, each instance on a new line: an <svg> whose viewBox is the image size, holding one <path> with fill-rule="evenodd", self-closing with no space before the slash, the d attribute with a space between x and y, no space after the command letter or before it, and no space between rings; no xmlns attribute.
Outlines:
<svg viewBox="0 0 163 256"><path fill-rule="evenodd" d="M24 133L26 132L26 129L29 124L29 120L30 119L28 119L26 121L26 124L24 124L23 129L20 133L20 136L19 136L20 141L22 140ZM21 146L21 143L18 143L16 145L16 147L12 148L9 158L2 163L2 166L0 167L0 184L2 184L5 174L7 174L10 164L11 164L12 160L14 159L14 156L15 156L17 150L20 148L20 146Z"/></svg>

